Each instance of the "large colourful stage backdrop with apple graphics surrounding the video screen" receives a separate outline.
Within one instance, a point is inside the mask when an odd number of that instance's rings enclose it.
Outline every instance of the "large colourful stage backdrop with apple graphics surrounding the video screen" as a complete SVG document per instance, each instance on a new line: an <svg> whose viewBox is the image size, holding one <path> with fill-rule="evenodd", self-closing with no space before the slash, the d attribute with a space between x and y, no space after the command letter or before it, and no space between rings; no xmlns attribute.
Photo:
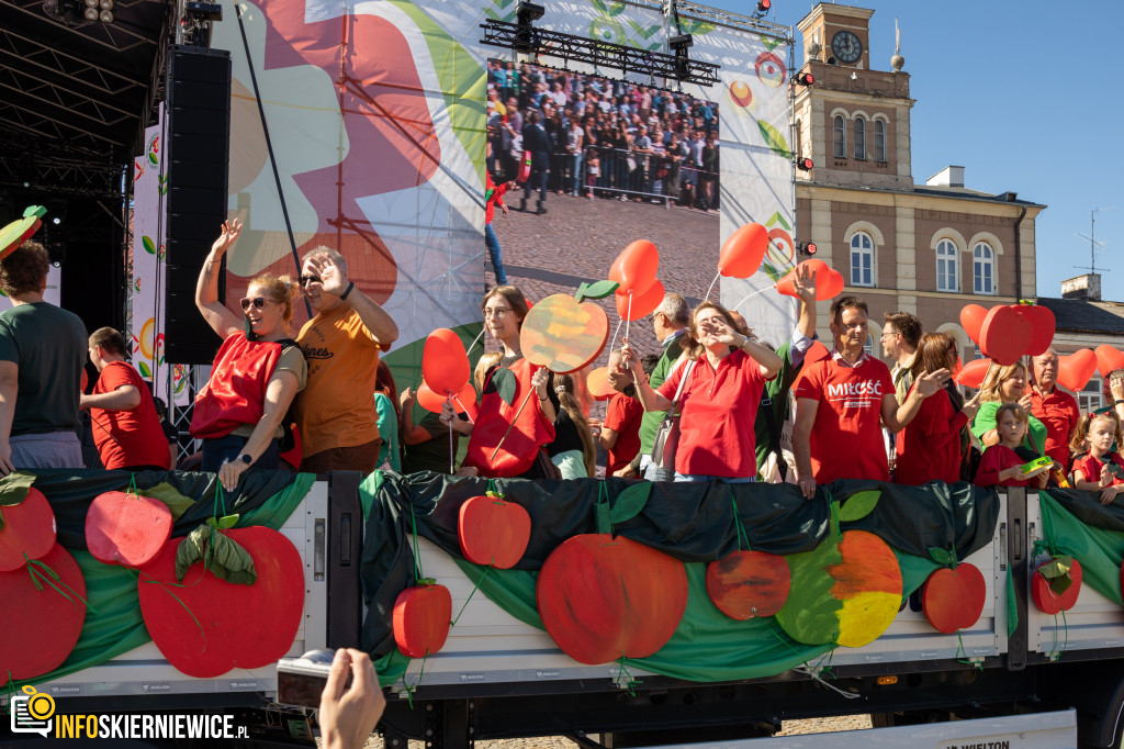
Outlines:
<svg viewBox="0 0 1124 749"><path fill-rule="evenodd" d="M234 61L229 211L246 224L228 259L227 299L243 296L260 272L296 276L294 254L338 250L356 286L398 324L388 361L401 387L399 373L419 366L430 331L460 328L471 339L480 323L486 64L489 56L510 58L510 51L479 43L480 24L514 20L515 3L223 4L225 20L216 25L212 46L229 49ZM668 34L676 33L654 8L601 0L546 3L536 26L652 49L665 49ZM787 72L754 67L767 54L787 60L787 43L690 19L683 30L695 35L692 57L724 66L720 87L685 90L725 105L729 87L741 81L756 98L747 114L732 114L732 107L722 112L722 237L750 220L790 234L791 159L781 154L790 119ZM717 271L718 251L699 262ZM754 283L772 282L761 277L724 281L722 298L736 301ZM754 327L778 343L786 340L795 319L791 300L756 301L760 309L742 307ZM307 315L296 312L299 328Z"/></svg>

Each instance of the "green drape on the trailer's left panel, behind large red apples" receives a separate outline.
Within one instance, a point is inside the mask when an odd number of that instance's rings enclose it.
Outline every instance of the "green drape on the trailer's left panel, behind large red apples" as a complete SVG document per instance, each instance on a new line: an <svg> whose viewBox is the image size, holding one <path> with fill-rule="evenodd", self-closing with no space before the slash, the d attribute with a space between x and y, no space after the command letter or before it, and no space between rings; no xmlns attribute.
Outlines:
<svg viewBox="0 0 1124 749"><path fill-rule="evenodd" d="M196 504L176 521L172 530L173 536L185 535L211 516L214 479L212 473L181 471L136 475L142 494L145 488L167 481L184 496L196 499ZM277 530L300 505L315 480L316 476L312 473L246 473L239 491L226 498L226 512L241 513L237 527L264 525ZM87 601L93 611L87 611L78 644L62 666L49 674L4 685L6 689L18 689L24 684L43 684L81 671L151 640L140 616L137 574L124 567L100 562L85 550L85 511L90 502L103 491L124 491L128 486L129 473L126 471L39 471L35 488L43 491L51 502L58 525L58 542L74 557L82 570Z"/></svg>

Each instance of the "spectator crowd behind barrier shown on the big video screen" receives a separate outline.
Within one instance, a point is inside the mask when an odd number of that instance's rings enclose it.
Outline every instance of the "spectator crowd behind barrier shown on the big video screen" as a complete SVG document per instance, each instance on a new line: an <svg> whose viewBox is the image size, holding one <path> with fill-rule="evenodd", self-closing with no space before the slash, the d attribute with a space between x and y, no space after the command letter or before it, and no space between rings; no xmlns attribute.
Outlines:
<svg viewBox="0 0 1124 749"><path fill-rule="evenodd" d="M718 105L627 81L488 63L488 171L535 191L718 207Z"/></svg>

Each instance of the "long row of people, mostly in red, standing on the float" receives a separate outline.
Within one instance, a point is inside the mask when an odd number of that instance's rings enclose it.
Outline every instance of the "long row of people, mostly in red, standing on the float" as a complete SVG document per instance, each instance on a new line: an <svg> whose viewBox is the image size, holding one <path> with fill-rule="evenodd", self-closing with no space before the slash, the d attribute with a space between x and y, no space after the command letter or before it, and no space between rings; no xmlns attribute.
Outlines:
<svg viewBox="0 0 1124 749"><path fill-rule="evenodd" d="M607 476L788 481L808 498L817 485L846 478L1071 482L1106 504L1124 486L1124 370L1105 378L1112 405L1090 414L1058 387L1052 350L992 366L964 398L951 376L955 340L926 333L909 313L885 313L881 348L891 369L864 351L870 310L852 296L832 304L832 340L813 355L816 278L805 267L794 282L799 317L787 341L760 341L738 314L710 301L690 309L681 295L667 294L650 317L660 350L625 340L610 352L604 418L590 415L583 372L554 374L524 359L529 301L498 286L481 301L492 351L474 372L474 418L459 413L468 408L461 401L416 418L415 388L398 388L380 355L397 325L348 279L335 251L308 253L296 279L254 278L241 315L219 303L218 269L241 231L236 219L224 225L196 298L223 344L193 405L190 431L202 449L191 466L217 473L227 489L247 470L287 468L581 478L599 472L598 448L607 452ZM0 260L0 286L12 300L0 314L0 470L82 467L80 409L105 468L175 467L123 336L111 328L87 336L76 316L44 303L47 267L36 242ZM294 335L299 297L314 316ZM81 383L88 360L99 372L91 387ZM505 395L513 383L527 397ZM679 422L673 457L661 439L669 412ZM462 439L466 457L457 467Z"/></svg>

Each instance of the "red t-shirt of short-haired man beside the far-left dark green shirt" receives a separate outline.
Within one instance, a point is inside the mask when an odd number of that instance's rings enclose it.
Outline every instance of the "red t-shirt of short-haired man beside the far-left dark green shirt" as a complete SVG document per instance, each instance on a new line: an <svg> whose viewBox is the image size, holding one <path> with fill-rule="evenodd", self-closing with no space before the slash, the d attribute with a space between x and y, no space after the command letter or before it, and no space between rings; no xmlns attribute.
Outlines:
<svg viewBox="0 0 1124 749"><path fill-rule="evenodd" d="M93 395L112 392L132 385L140 392L140 405L133 410L91 408L93 442L98 445L101 463L107 469L127 466L160 466L165 470L172 458L167 437L156 417L152 392L128 362L115 361L106 366L93 386Z"/></svg>

